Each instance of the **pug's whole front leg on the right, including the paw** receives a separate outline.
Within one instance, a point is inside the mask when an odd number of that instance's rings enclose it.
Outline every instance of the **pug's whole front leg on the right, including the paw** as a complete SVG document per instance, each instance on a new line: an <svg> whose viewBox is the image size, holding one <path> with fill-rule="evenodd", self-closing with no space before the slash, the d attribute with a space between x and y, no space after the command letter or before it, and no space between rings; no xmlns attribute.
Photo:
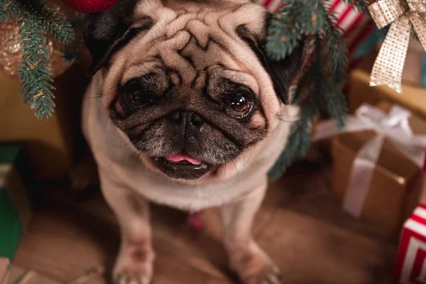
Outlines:
<svg viewBox="0 0 426 284"><path fill-rule="evenodd" d="M231 269L244 284L280 284L280 271L251 235L253 218L263 200L267 182L243 200L222 207L224 246Z"/></svg>

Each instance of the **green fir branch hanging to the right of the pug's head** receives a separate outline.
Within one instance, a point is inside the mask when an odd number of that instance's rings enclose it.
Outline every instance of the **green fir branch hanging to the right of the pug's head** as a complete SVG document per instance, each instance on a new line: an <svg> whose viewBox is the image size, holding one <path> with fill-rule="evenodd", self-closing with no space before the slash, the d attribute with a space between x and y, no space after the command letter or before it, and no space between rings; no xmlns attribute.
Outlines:
<svg viewBox="0 0 426 284"><path fill-rule="evenodd" d="M359 11L367 11L374 0L344 0ZM273 16L268 30L268 55L281 60L290 55L300 38L312 38L313 52L299 80L292 104L300 105L299 119L290 129L283 153L270 172L279 178L310 147L312 121L325 111L338 129L344 129L347 118L346 99L342 89L347 80L348 58L339 20L324 0L283 0L283 8Z"/></svg>

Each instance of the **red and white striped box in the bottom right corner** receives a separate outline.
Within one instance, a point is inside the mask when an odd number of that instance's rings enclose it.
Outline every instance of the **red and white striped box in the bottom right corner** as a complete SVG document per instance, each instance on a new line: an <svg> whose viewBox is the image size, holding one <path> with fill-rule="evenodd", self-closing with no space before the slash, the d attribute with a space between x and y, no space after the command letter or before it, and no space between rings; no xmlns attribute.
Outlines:
<svg viewBox="0 0 426 284"><path fill-rule="evenodd" d="M419 205L404 224L394 276L395 283L426 284L425 205Z"/></svg>

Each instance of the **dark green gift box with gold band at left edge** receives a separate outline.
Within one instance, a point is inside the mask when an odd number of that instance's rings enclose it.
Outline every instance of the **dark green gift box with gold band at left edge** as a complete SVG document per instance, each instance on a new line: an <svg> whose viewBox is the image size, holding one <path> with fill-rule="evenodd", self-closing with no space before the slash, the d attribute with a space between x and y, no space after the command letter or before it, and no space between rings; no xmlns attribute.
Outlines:
<svg viewBox="0 0 426 284"><path fill-rule="evenodd" d="M23 146L0 143L0 258L9 261L13 261L31 220L33 192L29 173Z"/></svg>

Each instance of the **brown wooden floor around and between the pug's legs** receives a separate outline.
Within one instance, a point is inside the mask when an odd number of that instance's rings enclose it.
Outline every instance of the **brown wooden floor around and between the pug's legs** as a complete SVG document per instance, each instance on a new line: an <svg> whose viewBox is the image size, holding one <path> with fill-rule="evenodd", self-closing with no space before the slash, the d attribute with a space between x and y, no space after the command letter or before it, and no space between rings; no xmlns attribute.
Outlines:
<svg viewBox="0 0 426 284"><path fill-rule="evenodd" d="M329 190L330 173L327 163L300 163L273 182L253 228L258 244L278 263L285 283L391 283L398 236L343 214ZM16 265L60 283L100 269L102 275L84 283L107 283L119 230L102 197L69 202L61 187L47 191L55 202L36 210ZM202 215L202 231L165 207L153 206L152 219L156 284L236 283L215 209Z"/></svg>

